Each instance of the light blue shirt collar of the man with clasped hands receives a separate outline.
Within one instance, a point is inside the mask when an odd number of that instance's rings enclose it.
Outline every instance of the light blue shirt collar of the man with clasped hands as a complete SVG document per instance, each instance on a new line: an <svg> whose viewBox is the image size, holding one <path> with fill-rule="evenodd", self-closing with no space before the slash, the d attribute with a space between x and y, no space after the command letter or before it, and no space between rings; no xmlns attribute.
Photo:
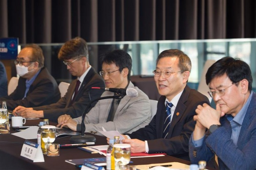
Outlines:
<svg viewBox="0 0 256 170"><path fill-rule="evenodd" d="M236 123L242 125L243 121L244 121L244 116L246 115L246 112L247 112L247 109L249 107L249 104L252 100L252 92L250 94L250 96L248 97L246 103L244 104L244 106L242 107L242 109L237 113L237 115L233 118L233 121L235 121ZM229 121L230 120L230 117L233 117L231 115L226 115L227 119ZM228 118L229 117L229 118Z"/></svg>

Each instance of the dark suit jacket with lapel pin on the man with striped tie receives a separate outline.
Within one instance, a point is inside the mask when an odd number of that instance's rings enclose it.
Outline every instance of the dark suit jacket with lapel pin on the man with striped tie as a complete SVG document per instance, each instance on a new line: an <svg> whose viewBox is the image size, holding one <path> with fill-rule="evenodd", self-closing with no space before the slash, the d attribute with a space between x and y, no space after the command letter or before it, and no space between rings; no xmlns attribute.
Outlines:
<svg viewBox="0 0 256 170"><path fill-rule="evenodd" d="M147 140L149 153L166 153L174 157L189 160L188 142L195 128L193 116L197 105L209 104L203 94L185 86L174 111L169 133L162 138L165 118L165 96L161 96L157 104L157 113L150 124L138 131L128 134L132 139Z"/></svg>

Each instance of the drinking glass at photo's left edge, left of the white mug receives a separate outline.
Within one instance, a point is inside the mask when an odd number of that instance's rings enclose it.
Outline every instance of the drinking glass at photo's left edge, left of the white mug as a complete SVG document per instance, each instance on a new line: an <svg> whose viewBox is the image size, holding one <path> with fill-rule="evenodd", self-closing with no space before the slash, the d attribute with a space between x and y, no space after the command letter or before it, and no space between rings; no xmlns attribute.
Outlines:
<svg viewBox="0 0 256 170"><path fill-rule="evenodd" d="M0 109L0 134L10 134L7 109Z"/></svg>

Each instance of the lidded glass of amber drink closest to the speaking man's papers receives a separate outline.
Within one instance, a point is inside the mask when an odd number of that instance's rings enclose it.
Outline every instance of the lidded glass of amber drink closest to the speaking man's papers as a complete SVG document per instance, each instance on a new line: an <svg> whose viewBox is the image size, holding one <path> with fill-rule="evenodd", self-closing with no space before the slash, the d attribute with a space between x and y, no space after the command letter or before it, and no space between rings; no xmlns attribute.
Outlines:
<svg viewBox="0 0 256 170"><path fill-rule="evenodd" d="M114 144L115 168L121 169L120 166L127 165L131 159L130 144Z"/></svg>

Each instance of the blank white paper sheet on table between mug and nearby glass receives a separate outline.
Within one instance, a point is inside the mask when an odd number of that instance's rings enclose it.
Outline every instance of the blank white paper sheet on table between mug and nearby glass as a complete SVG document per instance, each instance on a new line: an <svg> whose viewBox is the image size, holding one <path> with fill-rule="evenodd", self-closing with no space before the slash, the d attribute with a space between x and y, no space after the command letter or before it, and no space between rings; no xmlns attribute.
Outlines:
<svg viewBox="0 0 256 170"><path fill-rule="evenodd" d="M23 139L37 139L38 126L31 126L23 131L14 133L12 135L18 136Z"/></svg>

